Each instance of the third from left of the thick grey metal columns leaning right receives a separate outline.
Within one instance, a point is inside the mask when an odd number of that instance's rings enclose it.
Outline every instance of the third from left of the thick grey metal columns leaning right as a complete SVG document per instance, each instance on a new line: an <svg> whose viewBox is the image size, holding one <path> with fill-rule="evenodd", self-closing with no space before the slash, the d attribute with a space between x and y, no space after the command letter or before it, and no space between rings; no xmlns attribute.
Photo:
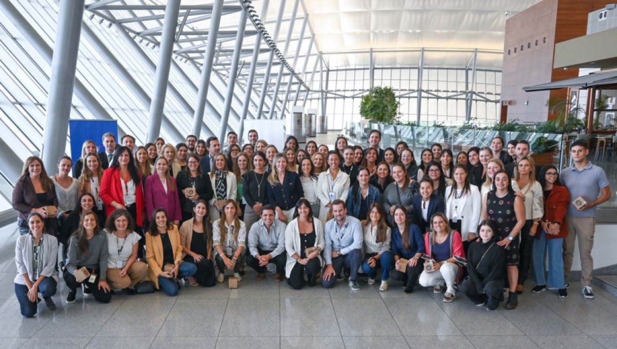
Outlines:
<svg viewBox="0 0 617 349"><path fill-rule="evenodd" d="M214 60L214 52L217 49L218 27L220 27L222 13L223 0L214 0L208 41L205 44L204 64L201 67L199 91L197 91L197 105L193 115L193 134L199 134L201 121L204 119L205 104L208 98L208 88L210 87L210 75L212 74L212 62Z"/></svg>

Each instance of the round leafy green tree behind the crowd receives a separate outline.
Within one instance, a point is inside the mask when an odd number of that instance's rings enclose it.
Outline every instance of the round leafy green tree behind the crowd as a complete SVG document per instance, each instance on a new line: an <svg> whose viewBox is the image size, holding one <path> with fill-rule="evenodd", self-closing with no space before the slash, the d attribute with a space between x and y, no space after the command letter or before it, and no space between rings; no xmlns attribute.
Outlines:
<svg viewBox="0 0 617 349"><path fill-rule="evenodd" d="M398 122L399 107L400 103L391 87L376 87L362 96L360 115L379 123L394 124Z"/></svg>

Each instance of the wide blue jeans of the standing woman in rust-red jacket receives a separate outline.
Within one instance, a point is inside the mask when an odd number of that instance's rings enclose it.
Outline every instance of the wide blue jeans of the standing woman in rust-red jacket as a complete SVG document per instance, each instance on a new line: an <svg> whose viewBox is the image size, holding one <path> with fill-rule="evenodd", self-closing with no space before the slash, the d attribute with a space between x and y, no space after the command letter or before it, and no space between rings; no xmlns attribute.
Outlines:
<svg viewBox="0 0 617 349"><path fill-rule="evenodd" d="M546 253L549 251L549 283L548 286L555 289L563 289L565 280L563 277L563 238L547 239L546 232L539 229L540 239L534 240L534 281L538 285L547 285L545 277Z"/></svg>

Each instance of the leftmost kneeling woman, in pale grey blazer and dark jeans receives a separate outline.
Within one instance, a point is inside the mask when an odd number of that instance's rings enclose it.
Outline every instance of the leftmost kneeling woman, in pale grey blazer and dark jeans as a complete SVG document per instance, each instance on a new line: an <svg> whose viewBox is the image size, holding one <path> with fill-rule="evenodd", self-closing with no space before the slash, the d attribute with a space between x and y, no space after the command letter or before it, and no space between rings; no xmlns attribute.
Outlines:
<svg viewBox="0 0 617 349"><path fill-rule="evenodd" d="M49 310L56 310L56 304L51 299L56 294L58 273L56 260L58 257L58 240L56 237L43 234L43 216L33 212L28 215L30 232L17 237L15 245L15 296L19 308L25 318L35 316L38 293L41 292L45 305Z"/></svg>

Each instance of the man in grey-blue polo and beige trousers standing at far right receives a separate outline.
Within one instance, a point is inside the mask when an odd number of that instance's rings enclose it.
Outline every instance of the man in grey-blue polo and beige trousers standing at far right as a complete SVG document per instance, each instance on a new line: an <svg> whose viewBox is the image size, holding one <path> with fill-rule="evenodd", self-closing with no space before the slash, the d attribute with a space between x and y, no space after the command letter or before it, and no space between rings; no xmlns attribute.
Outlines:
<svg viewBox="0 0 617 349"><path fill-rule="evenodd" d="M611 189L604 170L587 161L589 148L586 141L573 142L570 155L573 164L561 171L561 184L568 188L570 199L576 200L582 197L583 205L579 208L576 208L572 202L568 205L566 216L568 236L563 244L563 269L567 287L574 257L574 241L578 237L582 295L592 299L595 297L591 287L594 272L591 249L594 247L595 207L611 198Z"/></svg>

